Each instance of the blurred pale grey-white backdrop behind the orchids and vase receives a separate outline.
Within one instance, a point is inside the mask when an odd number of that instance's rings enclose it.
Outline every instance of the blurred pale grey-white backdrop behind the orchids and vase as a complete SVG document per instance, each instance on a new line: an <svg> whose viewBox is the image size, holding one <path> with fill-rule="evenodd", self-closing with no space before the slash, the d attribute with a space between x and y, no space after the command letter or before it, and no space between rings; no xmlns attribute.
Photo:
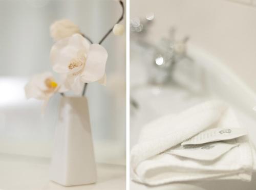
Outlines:
<svg viewBox="0 0 256 190"><path fill-rule="evenodd" d="M52 71L49 52L52 22L67 18L99 42L121 15L116 1L0 1L0 155L50 157L60 96L53 97L44 117L41 102L26 100L24 86L36 73ZM124 21L122 21L124 23ZM125 34L111 34L107 85L88 85L96 161L125 163Z"/></svg>

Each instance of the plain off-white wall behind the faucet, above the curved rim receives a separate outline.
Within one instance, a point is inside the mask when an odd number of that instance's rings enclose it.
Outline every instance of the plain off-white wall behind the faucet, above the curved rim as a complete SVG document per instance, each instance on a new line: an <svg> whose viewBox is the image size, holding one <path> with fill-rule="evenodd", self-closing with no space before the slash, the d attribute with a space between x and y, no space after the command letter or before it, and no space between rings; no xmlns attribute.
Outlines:
<svg viewBox="0 0 256 190"><path fill-rule="evenodd" d="M131 0L131 17L155 13L148 39L158 41L176 26L178 38L189 35L199 46L229 66L256 91L256 7L252 1ZM241 3L242 2L242 3Z"/></svg>

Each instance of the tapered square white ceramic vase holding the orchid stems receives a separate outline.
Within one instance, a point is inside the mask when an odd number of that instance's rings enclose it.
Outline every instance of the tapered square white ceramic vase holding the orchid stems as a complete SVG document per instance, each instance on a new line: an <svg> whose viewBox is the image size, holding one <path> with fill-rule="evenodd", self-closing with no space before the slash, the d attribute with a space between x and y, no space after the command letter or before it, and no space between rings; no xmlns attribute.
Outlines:
<svg viewBox="0 0 256 190"><path fill-rule="evenodd" d="M87 98L61 97L50 179L72 186L95 183L96 178Z"/></svg>

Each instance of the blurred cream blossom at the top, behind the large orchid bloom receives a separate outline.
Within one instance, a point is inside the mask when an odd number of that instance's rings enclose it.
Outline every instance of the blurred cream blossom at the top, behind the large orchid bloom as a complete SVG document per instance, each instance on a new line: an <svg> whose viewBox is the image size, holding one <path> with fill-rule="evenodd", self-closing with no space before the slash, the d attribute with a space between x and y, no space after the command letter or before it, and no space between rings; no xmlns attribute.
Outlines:
<svg viewBox="0 0 256 190"><path fill-rule="evenodd" d="M62 19L55 21L50 27L50 34L54 41L80 33L80 29L72 21Z"/></svg>

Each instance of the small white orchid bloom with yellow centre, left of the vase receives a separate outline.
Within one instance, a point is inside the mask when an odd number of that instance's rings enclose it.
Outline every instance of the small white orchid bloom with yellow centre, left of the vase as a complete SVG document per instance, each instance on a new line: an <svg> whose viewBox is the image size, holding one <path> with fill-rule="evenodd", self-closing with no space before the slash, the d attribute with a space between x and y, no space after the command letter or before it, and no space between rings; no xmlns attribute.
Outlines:
<svg viewBox="0 0 256 190"><path fill-rule="evenodd" d="M25 86L25 93L28 99L35 98L48 101L59 90L60 85L50 72L34 75Z"/></svg>

